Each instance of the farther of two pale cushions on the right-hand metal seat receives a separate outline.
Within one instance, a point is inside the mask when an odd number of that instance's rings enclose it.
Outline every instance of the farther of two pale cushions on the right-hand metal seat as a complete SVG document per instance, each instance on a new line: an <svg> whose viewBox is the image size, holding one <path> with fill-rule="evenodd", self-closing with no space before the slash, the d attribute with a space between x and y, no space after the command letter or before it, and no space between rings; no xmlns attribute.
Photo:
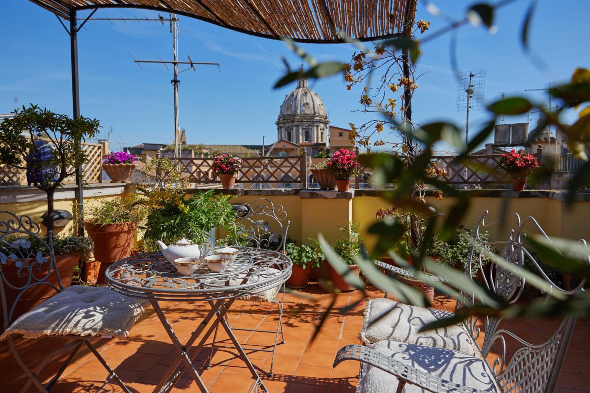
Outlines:
<svg viewBox="0 0 590 393"><path fill-rule="evenodd" d="M385 298L369 300L365 308L360 341L372 344L382 340L394 340L432 348L445 348L463 352L469 356L481 356L474 348L473 339L462 325L440 327L428 332L418 332L427 323L452 316L453 313L408 306Z"/></svg>

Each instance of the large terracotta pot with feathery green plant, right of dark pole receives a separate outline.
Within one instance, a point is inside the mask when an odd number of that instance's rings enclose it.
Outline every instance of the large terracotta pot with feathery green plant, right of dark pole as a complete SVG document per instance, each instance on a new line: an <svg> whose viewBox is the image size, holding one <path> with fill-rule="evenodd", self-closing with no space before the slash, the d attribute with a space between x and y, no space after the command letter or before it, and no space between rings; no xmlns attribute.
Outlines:
<svg viewBox="0 0 590 393"><path fill-rule="evenodd" d="M86 264L87 282L104 284L106 268L131 255L137 225L146 217L146 207L138 201L137 195L103 198L87 208L84 229L94 241L95 259Z"/></svg>

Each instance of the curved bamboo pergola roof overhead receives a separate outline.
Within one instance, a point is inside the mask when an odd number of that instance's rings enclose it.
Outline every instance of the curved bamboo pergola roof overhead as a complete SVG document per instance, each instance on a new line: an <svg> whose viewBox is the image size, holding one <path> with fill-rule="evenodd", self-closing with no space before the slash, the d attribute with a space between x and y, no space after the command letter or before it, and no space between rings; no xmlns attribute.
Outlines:
<svg viewBox="0 0 590 393"><path fill-rule="evenodd" d="M69 19L71 11L140 8L172 12L265 38L336 43L395 37L415 0L31 0ZM411 15L413 17L413 15Z"/></svg>

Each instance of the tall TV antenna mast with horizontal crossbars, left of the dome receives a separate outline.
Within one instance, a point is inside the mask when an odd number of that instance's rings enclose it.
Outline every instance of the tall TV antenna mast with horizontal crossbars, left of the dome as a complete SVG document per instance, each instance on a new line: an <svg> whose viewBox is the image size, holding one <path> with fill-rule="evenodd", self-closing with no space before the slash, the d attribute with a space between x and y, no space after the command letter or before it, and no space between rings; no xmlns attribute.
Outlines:
<svg viewBox="0 0 590 393"><path fill-rule="evenodd" d="M115 20L115 19L110 19L110 20ZM135 21L136 19L131 19L131 20ZM166 64L172 64L172 66L173 66L172 67L173 68L173 73L172 73L173 76L172 76L172 80L170 82L172 83L172 87L174 90L174 156L178 157L179 150L180 150L180 139L181 139L180 138L180 129L179 129L179 120L178 120L178 117L179 117L178 116L178 84L180 83L180 80L178 80L178 74L181 74L184 71L188 71L191 69L194 72L196 72L195 65L217 66L217 70L219 71L219 63L202 63L202 62L192 61L192 59L189 55L186 55L186 57L188 58L188 61L178 61L178 18L176 17L175 14L169 14L168 19L164 19L164 18L160 17L158 20L162 21L162 22L163 21L170 22L170 32L172 33L173 60L172 61L165 61L157 53L156 53L156 56L158 56L159 60L136 60L135 57L133 57L133 55L131 53L129 53L129 55L133 58L133 61L135 61L135 63L137 63L137 66L139 66L142 69L143 69L143 67L142 67L141 63L163 64L164 67L166 67L166 70L168 70L168 71L169 71L169 68ZM179 64L187 64L189 67L187 67L185 70L178 71Z"/></svg>

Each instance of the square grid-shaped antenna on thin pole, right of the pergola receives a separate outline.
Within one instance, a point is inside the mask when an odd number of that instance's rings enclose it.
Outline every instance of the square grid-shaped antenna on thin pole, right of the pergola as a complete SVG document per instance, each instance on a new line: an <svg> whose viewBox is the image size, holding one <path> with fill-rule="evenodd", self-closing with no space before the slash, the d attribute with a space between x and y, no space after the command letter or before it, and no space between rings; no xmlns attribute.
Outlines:
<svg viewBox="0 0 590 393"><path fill-rule="evenodd" d="M465 143L469 135L469 111L483 107L483 89L486 84L486 70L460 73L457 76L457 112L467 112L465 120Z"/></svg>

